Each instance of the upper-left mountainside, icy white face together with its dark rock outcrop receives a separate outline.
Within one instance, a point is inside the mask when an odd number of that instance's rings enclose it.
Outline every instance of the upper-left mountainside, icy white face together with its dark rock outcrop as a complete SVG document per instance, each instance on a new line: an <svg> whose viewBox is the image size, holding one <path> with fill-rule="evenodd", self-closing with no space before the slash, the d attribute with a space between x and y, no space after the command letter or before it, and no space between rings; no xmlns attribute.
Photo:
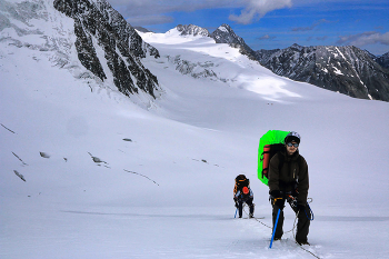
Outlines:
<svg viewBox="0 0 389 259"><path fill-rule="evenodd" d="M113 81L129 96L143 91L158 94L158 80L140 60L147 54L158 58L158 50L142 41L136 30L104 0L49 1L58 11L73 20L63 28L61 18L49 11L48 1L1 1L1 40L19 47L29 46L50 51L57 66L74 70L73 62L87 69L76 77L91 78L103 84ZM43 31L40 22L52 21ZM54 34L53 34L54 33ZM24 36L24 37L23 37ZM31 41L36 38L37 41ZM71 49L70 47L73 47ZM77 58L72 56L77 52Z"/></svg>

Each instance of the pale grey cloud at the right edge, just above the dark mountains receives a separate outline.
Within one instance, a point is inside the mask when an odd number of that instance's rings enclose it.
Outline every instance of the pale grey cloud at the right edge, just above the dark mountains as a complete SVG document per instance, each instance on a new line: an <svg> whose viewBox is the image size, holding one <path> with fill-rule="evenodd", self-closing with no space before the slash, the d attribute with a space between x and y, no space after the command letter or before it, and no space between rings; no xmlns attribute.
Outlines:
<svg viewBox="0 0 389 259"><path fill-rule="evenodd" d="M363 33L358 33L353 36L341 36L339 37L339 44L352 44L357 47L363 47L367 44L389 44L389 31L386 33L380 33L377 31L367 31Z"/></svg>

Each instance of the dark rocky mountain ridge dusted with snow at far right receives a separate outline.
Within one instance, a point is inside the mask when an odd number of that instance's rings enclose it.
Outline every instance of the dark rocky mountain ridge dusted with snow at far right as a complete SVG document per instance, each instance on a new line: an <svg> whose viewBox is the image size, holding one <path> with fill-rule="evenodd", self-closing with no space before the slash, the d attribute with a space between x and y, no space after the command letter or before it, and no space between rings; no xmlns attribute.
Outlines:
<svg viewBox="0 0 389 259"><path fill-rule="evenodd" d="M350 97L389 101L389 71L356 47L293 44L259 50L258 60L275 73Z"/></svg>

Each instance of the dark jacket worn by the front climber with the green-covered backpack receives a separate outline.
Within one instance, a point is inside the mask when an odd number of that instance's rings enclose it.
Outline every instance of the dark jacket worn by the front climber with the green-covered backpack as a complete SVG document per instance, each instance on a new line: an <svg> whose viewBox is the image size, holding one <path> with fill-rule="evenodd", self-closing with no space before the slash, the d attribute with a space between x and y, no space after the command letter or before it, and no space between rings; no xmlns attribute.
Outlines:
<svg viewBox="0 0 389 259"><path fill-rule="evenodd" d="M279 165L282 161L283 163L280 167ZM298 203L306 205L309 189L307 161L300 156L299 150L289 157L287 156L287 149L283 148L270 159L269 188L270 191L279 190L287 193L293 192L296 187Z"/></svg>

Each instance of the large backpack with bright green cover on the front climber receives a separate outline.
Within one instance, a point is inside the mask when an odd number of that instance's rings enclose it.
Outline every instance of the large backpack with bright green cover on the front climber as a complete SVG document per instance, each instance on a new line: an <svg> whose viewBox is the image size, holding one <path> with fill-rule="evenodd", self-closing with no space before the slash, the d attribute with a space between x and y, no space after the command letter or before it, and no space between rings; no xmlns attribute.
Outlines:
<svg viewBox="0 0 389 259"><path fill-rule="evenodd" d="M285 137L289 131L269 130L259 140L258 148L258 179L269 186L270 159L282 149Z"/></svg>

